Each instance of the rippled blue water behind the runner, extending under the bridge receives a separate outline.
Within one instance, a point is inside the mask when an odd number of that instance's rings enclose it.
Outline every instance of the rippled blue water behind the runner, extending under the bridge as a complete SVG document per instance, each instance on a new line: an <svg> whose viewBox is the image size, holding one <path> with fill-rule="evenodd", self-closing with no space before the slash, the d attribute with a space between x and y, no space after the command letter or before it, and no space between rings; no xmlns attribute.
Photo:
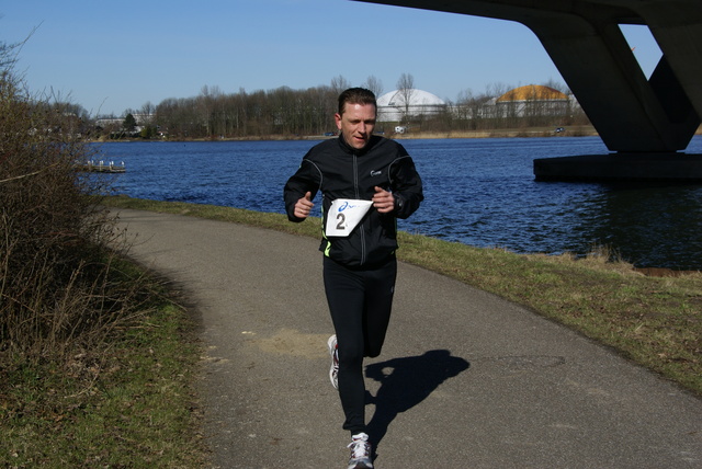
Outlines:
<svg viewBox="0 0 702 469"><path fill-rule="evenodd" d="M132 197L284 213L282 188L315 141L103 144ZM637 266L702 268L702 185L536 182L535 158L603 153L598 137L401 140L426 201L400 229L516 252L609 245ZM702 137L688 152L702 153ZM318 201L317 201L318 202Z"/></svg>

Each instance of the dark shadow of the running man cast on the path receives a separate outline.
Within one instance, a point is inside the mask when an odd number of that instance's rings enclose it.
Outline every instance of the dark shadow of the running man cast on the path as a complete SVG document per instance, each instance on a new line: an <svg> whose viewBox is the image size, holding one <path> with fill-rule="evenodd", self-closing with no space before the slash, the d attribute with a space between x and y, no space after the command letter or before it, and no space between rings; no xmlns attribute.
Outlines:
<svg viewBox="0 0 702 469"><path fill-rule="evenodd" d="M419 404L443 381L469 367L468 362L451 356L451 352L446 350L367 365L365 376L381 382L375 397L366 391L369 402L375 404L375 413L367 424L373 449L381 443L398 413Z"/></svg>

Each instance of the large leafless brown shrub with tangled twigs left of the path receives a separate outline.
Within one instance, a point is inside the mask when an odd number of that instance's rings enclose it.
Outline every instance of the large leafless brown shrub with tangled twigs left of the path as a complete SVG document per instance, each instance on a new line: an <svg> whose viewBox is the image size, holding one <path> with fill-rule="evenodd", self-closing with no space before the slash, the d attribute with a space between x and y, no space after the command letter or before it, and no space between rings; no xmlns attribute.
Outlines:
<svg viewBox="0 0 702 469"><path fill-rule="evenodd" d="M92 150L77 116L22 87L12 50L0 44L0 367L94 353L145 300L99 205L104 181L80 171Z"/></svg>

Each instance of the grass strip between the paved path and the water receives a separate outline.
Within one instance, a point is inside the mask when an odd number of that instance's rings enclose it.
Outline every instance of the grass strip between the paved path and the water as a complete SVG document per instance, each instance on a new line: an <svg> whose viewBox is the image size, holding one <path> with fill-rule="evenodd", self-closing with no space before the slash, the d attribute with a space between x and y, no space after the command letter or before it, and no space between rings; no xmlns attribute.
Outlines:
<svg viewBox="0 0 702 469"><path fill-rule="evenodd" d="M319 236L319 224L282 215L111 197L109 205ZM584 259L517 254L400 233L401 261L456 278L561 322L624 357L702 396L702 274L650 277L610 261L605 250Z"/></svg>

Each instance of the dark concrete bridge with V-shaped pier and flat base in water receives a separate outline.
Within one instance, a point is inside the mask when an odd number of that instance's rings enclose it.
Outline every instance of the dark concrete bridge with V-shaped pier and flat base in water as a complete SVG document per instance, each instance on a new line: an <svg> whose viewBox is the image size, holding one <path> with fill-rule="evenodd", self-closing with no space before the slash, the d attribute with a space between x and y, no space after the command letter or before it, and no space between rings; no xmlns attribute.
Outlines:
<svg viewBox="0 0 702 469"><path fill-rule="evenodd" d="M702 180L702 156L678 163L702 116L700 0L360 1L509 20L532 30L613 152L593 157L590 168L582 157L536 160L537 179ZM621 24L647 25L658 43L663 58L649 79Z"/></svg>

